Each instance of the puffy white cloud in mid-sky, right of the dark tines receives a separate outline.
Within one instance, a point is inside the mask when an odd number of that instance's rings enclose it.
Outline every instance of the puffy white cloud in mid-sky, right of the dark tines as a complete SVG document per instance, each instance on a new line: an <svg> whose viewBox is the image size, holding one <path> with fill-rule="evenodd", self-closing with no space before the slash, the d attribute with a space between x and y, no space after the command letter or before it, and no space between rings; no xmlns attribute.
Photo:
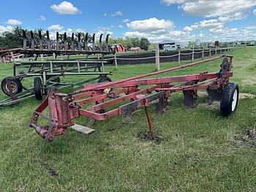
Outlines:
<svg viewBox="0 0 256 192"><path fill-rule="evenodd" d="M162 29L171 29L175 25L171 20L159 20L157 18L148 18L146 20L134 20L130 23L127 23L127 26L132 30L139 32L152 32L159 31Z"/></svg>

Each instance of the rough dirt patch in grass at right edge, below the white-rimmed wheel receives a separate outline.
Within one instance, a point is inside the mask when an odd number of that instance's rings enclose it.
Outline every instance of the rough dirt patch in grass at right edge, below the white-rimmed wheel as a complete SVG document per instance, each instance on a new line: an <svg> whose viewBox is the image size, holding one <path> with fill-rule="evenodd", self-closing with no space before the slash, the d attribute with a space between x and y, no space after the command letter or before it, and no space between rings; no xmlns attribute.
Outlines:
<svg viewBox="0 0 256 192"><path fill-rule="evenodd" d="M235 136L235 140L239 146L246 145L256 149L256 128L246 129L243 135Z"/></svg>

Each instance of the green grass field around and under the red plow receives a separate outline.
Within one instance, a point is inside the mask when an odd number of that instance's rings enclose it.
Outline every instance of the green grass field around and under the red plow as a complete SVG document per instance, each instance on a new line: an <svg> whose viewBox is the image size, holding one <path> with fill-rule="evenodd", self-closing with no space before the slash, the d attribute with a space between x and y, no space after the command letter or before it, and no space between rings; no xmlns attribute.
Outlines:
<svg viewBox="0 0 256 192"><path fill-rule="evenodd" d="M230 55L235 56L231 81L238 82L242 93L256 95L256 47ZM169 74L217 72L220 64L212 61ZM161 69L174 65L162 64ZM120 66L112 78L153 71L153 64ZM1 64L0 80L11 74L12 65ZM256 139L249 132L256 128L256 96L240 99L236 114L222 118L218 104L208 104L206 94L200 93L192 110L184 107L182 93L173 94L164 114L157 115L151 105L159 142L138 137L148 128L140 110L129 121L96 122L93 134L68 130L48 144L28 126L39 103L25 101L0 110L0 191L256 191Z"/></svg>

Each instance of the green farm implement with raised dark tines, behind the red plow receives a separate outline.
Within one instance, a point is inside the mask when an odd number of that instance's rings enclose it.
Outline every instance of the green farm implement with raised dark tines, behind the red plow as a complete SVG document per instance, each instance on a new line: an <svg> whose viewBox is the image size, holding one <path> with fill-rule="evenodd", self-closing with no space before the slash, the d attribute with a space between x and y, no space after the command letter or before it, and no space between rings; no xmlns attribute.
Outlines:
<svg viewBox="0 0 256 192"><path fill-rule="evenodd" d="M12 77L6 77L1 81L1 90L9 96L9 98L0 101L0 107L10 104L16 104L20 101L31 99L35 96L37 100L42 100L42 96L48 93L51 86L56 86L60 90L78 85L85 82L98 80L98 82L111 81L105 72L103 61L105 55L113 54L114 51L108 45L107 35L105 43L102 42L103 35L99 37L99 45L96 45L95 34L92 37L86 34L84 38L78 34L75 39L74 34L68 42L67 34L63 35L63 40L59 40L59 32L56 33L56 40L50 40L49 33L46 31L46 38L42 37L42 32L38 32L39 37L34 37L31 31L30 36L23 31L23 48L19 53L23 53L26 57L32 57L31 61L16 61L13 64ZM90 37L90 38L89 38ZM83 40L83 42L82 42ZM82 59L57 59L58 55L83 55ZM43 57L50 56L46 60ZM88 60L89 55L97 55L97 59ZM41 59L38 59L41 56ZM60 82L60 77L90 76L85 80L78 82ZM32 87L26 88L23 80L33 77L34 83Z"/></svg>

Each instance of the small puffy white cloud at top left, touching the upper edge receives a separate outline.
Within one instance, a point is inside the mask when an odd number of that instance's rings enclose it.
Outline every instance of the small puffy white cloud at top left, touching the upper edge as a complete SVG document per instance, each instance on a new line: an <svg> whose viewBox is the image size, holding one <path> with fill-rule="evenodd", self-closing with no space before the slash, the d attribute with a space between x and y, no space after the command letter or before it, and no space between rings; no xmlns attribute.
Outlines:
<svg viewBox="0 0 256 192"><path fill-rule="evenodd" d="M54 12L57 12L60 15L76 15L81 13L77 7L68 1L63 1L58 5L53 4L50 6L50 9L53 9Z"/></svg>

